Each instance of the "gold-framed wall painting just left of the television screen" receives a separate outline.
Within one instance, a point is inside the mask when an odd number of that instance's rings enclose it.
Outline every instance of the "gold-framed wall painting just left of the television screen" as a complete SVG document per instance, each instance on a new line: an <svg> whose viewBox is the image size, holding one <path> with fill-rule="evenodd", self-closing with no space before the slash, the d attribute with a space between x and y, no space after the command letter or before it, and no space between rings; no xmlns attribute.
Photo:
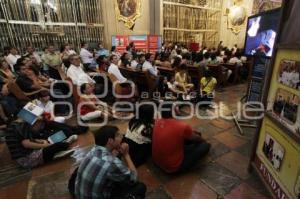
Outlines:
<svg viewBox="0 0 300 199"><path fill-rule="evenodd" d="M226 9L227 27L234 34L241 32L247 19L247 10L242 4L243 0L234 0L233 5Z"/></svg>

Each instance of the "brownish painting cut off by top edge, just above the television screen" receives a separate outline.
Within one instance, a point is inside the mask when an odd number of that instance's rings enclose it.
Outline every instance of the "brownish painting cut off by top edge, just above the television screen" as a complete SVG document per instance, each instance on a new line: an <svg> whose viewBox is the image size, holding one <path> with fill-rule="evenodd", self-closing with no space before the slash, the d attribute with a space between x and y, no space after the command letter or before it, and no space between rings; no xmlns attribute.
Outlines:
<svg viewBox="0 0 300 199"><path fill-rule="evenodd" d="M252 14L279 8L282 0L254 0Z"/></svg>

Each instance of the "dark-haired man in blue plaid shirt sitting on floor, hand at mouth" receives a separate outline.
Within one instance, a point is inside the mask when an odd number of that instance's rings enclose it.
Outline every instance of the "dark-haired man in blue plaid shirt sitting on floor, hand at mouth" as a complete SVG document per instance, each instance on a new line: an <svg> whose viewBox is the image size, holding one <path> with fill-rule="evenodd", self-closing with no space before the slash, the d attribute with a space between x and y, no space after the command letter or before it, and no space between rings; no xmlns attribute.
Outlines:
<svg viewBox="0 0 300 199"><path fill-rule="evenodd" d="M115 126L103 126L94 137L96 145L86 155L78 170L75 170L75 197L145 198L147 188L138 182L128 144L121 144L123 135L119 129ZM114 151L120 153L123 161L114 155Z"/></svg>

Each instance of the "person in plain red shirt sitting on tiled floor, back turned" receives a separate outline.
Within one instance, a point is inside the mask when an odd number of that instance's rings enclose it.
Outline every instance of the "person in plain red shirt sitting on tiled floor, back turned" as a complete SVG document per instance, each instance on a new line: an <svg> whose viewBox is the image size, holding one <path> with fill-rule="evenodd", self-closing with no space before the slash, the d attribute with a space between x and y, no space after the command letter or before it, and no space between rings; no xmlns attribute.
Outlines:
<svg viewBox="0 0 300 199"><path fill-rule="evenodd" d="M152 160L167 173L185 172L195 166L210 148L199 132L172 116L176 105L162 105L152 135Z"/></svg>

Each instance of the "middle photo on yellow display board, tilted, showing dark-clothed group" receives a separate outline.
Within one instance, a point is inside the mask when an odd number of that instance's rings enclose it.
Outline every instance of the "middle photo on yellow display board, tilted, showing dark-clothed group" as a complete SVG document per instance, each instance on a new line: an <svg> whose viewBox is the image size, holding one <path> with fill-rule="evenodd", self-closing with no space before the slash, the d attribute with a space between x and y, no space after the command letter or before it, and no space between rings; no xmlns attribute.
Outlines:
<svg viewBox="0 0 300 199"><path fill-rule="evenodd" d="M300 138L299 104L299 96L284 89L278 89L273 103L270 103L268 107L272 116L298 138Z"/></svg>

